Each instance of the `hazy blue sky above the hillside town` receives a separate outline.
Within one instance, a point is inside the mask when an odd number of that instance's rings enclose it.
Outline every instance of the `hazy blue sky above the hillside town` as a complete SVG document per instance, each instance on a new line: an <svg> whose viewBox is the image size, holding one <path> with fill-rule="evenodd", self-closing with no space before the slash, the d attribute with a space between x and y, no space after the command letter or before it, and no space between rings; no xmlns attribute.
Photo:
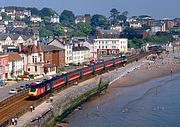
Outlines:
<svg viewBox="0 0 180 127"><path fill-rule="evenodd" d="M128 11L129 16L150 15L153 18L180 18L180 0L0 0L0 6L53 8L59 14L71 10L75 15L102 14L110 10Z"/></svg>

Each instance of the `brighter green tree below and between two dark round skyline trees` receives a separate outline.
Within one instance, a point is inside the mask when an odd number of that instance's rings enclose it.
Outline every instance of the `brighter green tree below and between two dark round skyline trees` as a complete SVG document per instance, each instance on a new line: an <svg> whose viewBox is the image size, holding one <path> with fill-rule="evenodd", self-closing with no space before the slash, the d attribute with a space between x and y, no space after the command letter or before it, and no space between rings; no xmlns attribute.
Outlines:
<svg viewBox="0 0 180 127"><path fill-rule="evenodd" d="M89 23L79 22L77 24L77 30L81 31L87 36L92 31L92 27Z"/></svg>

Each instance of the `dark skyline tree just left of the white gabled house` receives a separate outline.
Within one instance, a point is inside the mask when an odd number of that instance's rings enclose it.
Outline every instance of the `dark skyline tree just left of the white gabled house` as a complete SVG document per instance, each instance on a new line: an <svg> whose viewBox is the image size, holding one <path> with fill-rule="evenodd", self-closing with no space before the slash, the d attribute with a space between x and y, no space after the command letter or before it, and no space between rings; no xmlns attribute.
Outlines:
<svg viewBox="0 0 180 127"><path fill-rule="evenodd" d="M51 8L43 8L40 11L40 16L41 17L45 17L45 16L51 17L51 16L54 16L55 14L57 14L56 11L54 11Z"/></svg>

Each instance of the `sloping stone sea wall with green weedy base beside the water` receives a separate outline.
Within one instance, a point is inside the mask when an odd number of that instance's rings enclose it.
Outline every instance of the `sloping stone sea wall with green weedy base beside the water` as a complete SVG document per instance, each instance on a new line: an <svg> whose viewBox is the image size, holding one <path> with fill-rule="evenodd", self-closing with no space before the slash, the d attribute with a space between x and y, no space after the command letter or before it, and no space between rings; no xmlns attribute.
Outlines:
<svg viewBox="0 0 180 127"><path fill-rule="evenodd" d="M107 79L101 81L97 79L87 85L73 86L54 96L49 109L24 127L53 127L57 121L61 121L79 105L107 88L109 83Z"/></svg>

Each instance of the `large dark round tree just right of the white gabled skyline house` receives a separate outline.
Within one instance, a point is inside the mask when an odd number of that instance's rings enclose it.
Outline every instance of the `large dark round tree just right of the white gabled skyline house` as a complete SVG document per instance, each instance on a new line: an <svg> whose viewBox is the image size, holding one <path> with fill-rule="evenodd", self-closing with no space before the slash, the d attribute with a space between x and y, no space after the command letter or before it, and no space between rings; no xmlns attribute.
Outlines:
<svg viewBox="0 0 180 127"><path fill-rule="evenodd" d="M63 25L74 25L75 23L75 16L73 14L72 11L68 11L68 10L64 10L62 13L61 13L61 16L60 16L60 22L63 24Z"/></svg>

